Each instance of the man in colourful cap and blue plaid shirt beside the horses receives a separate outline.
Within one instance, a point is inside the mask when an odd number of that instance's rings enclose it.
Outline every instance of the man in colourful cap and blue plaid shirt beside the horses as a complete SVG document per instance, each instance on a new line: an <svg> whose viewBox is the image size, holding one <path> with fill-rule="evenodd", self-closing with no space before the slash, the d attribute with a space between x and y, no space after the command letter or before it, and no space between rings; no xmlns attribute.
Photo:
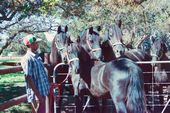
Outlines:
<svg viewBox="0 0 170 113"><path fill-rule="evenodd" d="M21 66L26 78L27 100L31 103L32 112L48 113L50 84L44 64L37 53L38 41L40 39L34 35L24 37L23 42L27 47L27 53L21 60Z"/></svg>

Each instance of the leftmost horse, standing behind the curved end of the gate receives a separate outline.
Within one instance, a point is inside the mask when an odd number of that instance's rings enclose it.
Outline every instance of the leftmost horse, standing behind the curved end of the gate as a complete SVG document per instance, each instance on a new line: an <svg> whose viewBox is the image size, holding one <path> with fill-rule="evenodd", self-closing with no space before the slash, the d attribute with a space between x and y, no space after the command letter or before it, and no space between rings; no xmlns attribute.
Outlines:
<svg viewBox="0 0 170 113"><path fill-rule="evenodd" d="M54 74L54 69L55 66L59 64L66 64L66 52L65 52L65 45L66 45L66 40L69 37L67 35L68 27L65 26L64 29L62 29L62 26L58 26L57 33L52 40L52 45L51 45L51 52L50 52L50 75ZM61 72L66 72L68 69L67 65L62 65L57 68L57 71ZM57 72L55 71L55 72ZM55 73L56 74L56 73ZM64 76L56 76L55 83L60 83L61 81L64 80ZM52 82L54 79L50 78L50 81ZM53 81L54 82L54 81ZM70 82L70 81L69 81ZM61 94L63 93L63 90L66 89L69 91L69 93L72 94L72 89L70 87L67 87L66 85L60 85L60 92ZM59 106L61 105L62 98L59 100ZM60 109L58 109L60 111Z"/></svg>

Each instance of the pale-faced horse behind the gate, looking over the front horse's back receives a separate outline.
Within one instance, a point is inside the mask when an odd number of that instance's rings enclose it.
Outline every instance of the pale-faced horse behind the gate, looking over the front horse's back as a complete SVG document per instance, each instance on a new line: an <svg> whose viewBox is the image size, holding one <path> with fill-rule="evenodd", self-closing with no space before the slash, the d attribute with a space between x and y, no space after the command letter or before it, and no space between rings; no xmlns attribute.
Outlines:
<svg viewBox="0 0 170 113"><path fill-rule="evenodd" d="M120 26L116 24L112 24L110 26L107 25L106 29L106 35L103 43L105 46L110 46L112 48L111 51L113 51L116 58L127 57L133 61L151 60L151 56L141 49L125 51L125 44L123 44L122 41L123 39Z"/></svg>

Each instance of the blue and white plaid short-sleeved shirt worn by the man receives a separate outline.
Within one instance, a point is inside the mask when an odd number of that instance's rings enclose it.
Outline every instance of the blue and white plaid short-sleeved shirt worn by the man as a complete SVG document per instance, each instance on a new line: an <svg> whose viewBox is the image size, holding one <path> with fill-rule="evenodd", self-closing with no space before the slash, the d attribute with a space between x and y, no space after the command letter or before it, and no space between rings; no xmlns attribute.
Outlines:
<svg viewBox="0 0 170 113"><path fill-rule="evenodd" d="M47 72L45 71L44 64L38 53L34 54L31 51L27 51L26 55L21 60L21 66L23 68L25 77L31 76L34 81L35 87L41 96L46 96L50 92L50 84L48 80ZM28 102L35 100L35 94L29 87L26 80L26 92Z"/></svg>

